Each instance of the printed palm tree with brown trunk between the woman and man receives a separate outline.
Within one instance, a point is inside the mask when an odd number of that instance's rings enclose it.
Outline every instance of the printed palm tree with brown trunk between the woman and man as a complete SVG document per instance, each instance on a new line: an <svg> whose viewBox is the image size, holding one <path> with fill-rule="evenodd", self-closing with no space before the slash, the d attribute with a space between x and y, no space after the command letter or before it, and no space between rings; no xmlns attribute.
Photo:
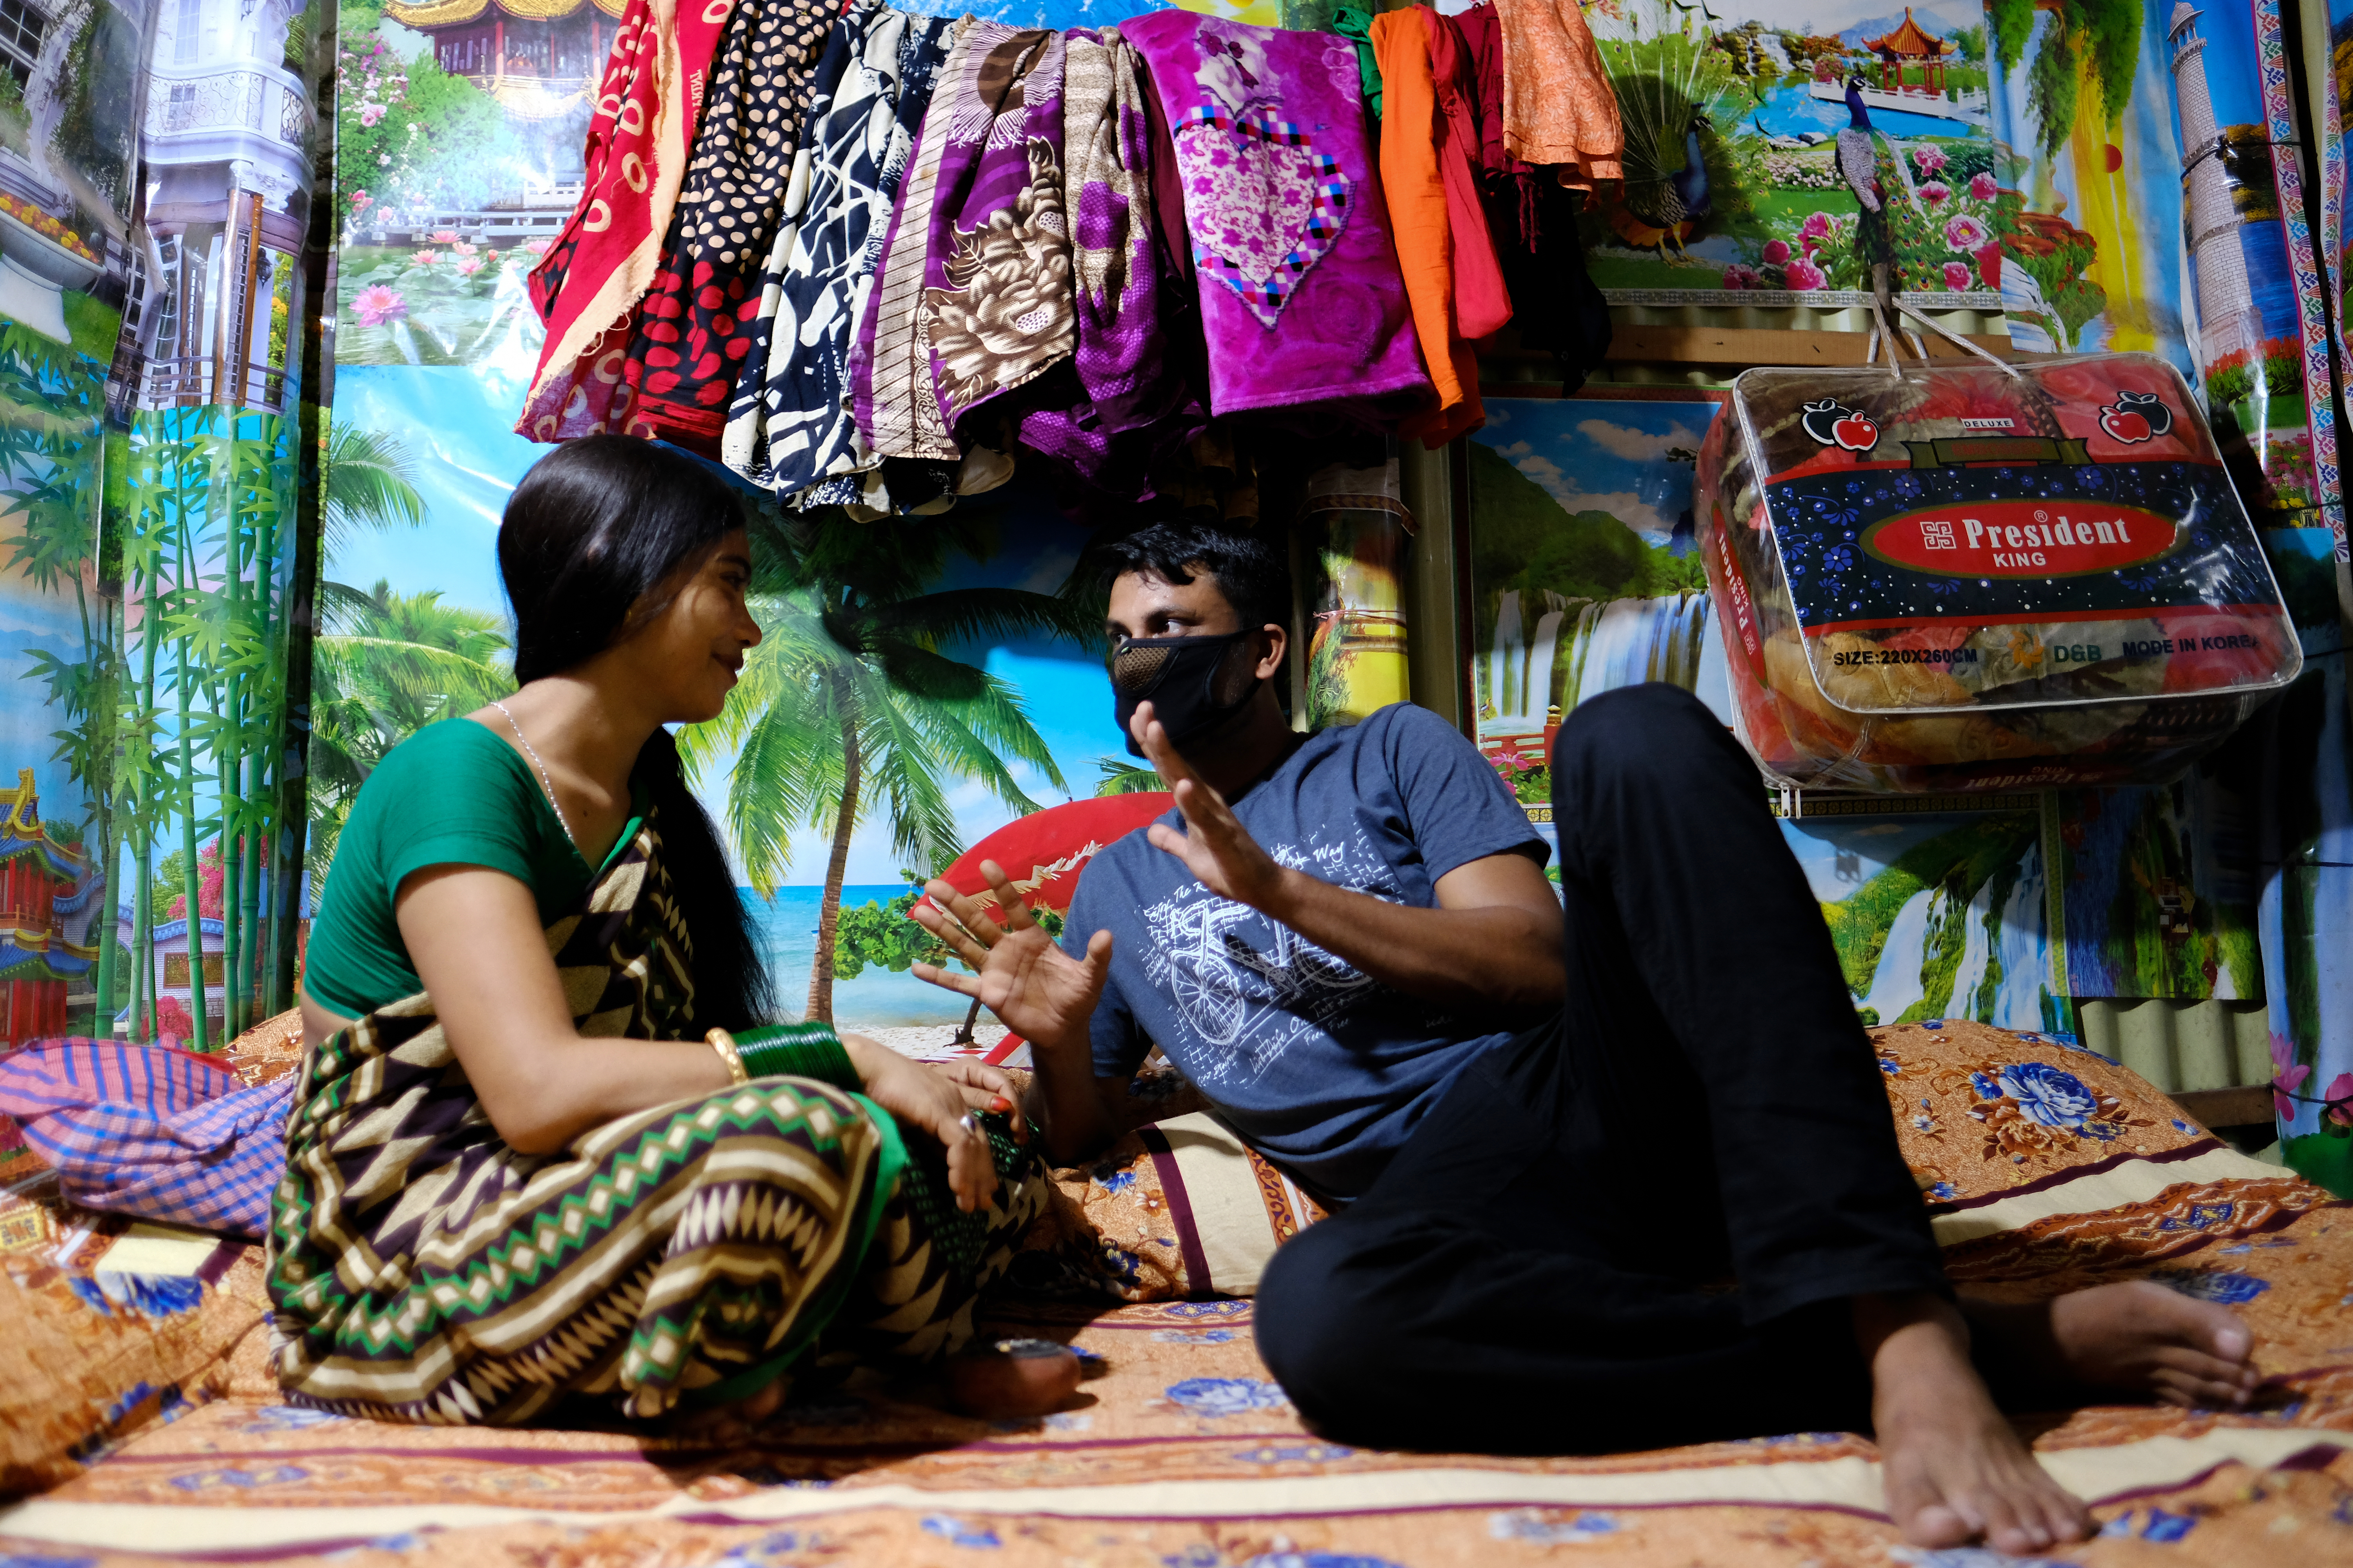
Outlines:
<svg viewBox="0 0 2353 1568"><path fill-rule="evenodd" d="M706 769L736 752L727 825L762 898L793 865L791 835L831 837L809 969L809 1018L833 1018L833 940L849 835L882 811L908 865L962 853L948 783L979 780L1016 813L1038 811L1007 762L1068 790L1012 684L941 649L1047 632L1087 637L1099 623L1075 599L1019 588L927 592L951 555L986 559L986 517L833 517L788 534L760 517L753 616L765 642L744 661L727 712L680 733Z"/></svg>

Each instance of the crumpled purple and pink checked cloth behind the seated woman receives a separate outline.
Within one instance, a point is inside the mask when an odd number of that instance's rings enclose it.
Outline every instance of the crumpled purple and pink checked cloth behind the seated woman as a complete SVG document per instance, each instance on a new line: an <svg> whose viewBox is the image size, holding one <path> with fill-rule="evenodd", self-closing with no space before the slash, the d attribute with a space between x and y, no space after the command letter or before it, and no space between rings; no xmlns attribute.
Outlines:
<svg viewBox="0 0 2353 1568"><path fill-rule="evenodd" d="M247 1088L169 1046L35 1039L0 1056L0 1112L75 1204L261 1237L294 1079Z"/></svg>

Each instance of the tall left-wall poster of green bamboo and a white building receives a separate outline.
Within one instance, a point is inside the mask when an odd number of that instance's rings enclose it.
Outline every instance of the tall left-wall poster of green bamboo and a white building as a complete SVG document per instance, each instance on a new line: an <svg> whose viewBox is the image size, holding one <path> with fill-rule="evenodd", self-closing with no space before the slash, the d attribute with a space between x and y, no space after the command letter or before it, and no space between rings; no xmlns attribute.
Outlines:
<svg viewBox="0 0 2353 1568"><path fill-rule="evenodd" d="M9 1039L207 1048L292 999L308 24L82 0L0 40L0 661L45 698L0 705ZM141 183L181 200L141 223Z"/></svg>

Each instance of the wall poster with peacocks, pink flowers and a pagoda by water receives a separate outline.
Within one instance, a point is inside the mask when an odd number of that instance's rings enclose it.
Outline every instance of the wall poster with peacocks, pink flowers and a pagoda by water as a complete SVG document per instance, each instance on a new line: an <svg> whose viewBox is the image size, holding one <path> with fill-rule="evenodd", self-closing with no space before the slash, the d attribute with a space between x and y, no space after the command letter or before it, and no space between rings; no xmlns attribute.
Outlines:
<svg viewBox="0 0 2353 1568"><path fill-rule="evenodd" d="M1609 303L1847 308L1868 301L1871 268L1887 261L1915 306L2000 320L1984 9L1885 12L1887 0L1588 5L1626 122L1626 183L1584 214Z"/></svg>

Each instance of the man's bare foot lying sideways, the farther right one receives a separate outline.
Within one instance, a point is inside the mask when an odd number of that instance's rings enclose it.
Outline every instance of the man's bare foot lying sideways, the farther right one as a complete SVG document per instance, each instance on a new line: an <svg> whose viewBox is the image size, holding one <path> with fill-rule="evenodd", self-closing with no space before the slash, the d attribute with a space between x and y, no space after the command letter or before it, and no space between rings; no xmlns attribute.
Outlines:
<svg viewBox="0 0 2353 1568"><path fill-rule="evenodd" d="M2047 1382L2226 1410L2264 1385L2254 1333L2235 1312L2146 1279L2028 1305L1965 1298L1962 1314L1981 1345Z"/></svg>

